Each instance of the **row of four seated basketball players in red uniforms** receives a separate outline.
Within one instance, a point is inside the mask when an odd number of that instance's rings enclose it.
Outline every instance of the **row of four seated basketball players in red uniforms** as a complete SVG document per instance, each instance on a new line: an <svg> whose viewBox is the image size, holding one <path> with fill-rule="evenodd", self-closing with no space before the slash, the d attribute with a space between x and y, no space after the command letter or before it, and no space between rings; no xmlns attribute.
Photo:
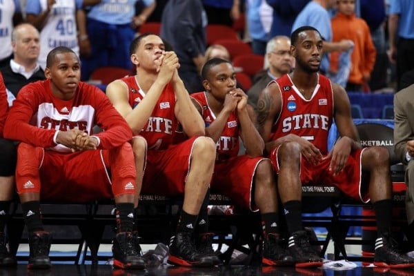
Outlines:
<svg viewBox="0 0 414 276"><path fill-rule="evenodd" d="M19 92L3 132L20 141L16 183L29 231L28 267L51 266L52 238L41 224L40 199L115 197L114 266L144 268L134 208L139 193L161 191L184 194L168 262L215 266L220 260L208 232L209 186L239 207L260 211L263 264L322 266L302 226L301 186L313 182L335 183L350 197L371 199L378 231L374 264L413 267L414 259L398 253L390 236L388 150L362 149L346 92L317 73L323 44L319 32L302 27L291 41L295 70L269 84L257 113L236 88L234 68L224 59L206 62L201 72L206 91L189 97L177 74L177 56L165 51L155 34L132 41L137 75L110 83L108 97L79 81L79 58L72 50L52 50L47 80ZM341 138L328 152L334 119ZM95 124L104 131L93 135ZM237 156L239 137L246 155ZM361 181L364 175L370 177L368 185ZM287 244L279 237L278 198ZM15 264L15 259L3 254L1 264Z"/></svg>

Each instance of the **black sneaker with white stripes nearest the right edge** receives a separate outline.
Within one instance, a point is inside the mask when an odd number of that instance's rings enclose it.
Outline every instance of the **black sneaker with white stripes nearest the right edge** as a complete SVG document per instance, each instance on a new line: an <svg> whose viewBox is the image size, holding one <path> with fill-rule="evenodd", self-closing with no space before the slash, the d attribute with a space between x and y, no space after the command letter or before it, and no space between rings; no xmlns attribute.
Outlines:
<svg viewBox="0 0 414 276"><path fill-rule="evenodd" d="M411 268L414 267L414 259L400 253L395 239L383 235L375 240L374 265L386 268Z"/></svg>

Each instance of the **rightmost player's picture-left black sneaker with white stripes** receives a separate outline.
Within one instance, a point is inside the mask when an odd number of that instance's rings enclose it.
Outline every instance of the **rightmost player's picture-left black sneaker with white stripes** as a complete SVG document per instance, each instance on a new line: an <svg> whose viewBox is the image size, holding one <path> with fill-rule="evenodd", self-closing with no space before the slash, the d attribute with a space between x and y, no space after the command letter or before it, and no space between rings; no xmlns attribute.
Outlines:
<svg viewBox="0 0 414 276"><path fill-rule="evenodd" d="M313 250L309 243L309 237L304 230L292 233L288 240L288 251L295 259L296 267L322 266L322 259Z"/></svg>

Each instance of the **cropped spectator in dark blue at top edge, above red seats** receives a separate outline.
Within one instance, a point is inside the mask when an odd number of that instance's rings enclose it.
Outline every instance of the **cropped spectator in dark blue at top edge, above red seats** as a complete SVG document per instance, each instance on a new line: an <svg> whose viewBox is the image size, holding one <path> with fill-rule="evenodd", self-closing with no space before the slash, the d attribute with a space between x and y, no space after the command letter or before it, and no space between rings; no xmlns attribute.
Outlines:
<svg viewBox="0 0 414 276"><path fill-rule="evenodd" d="M240 0L201 0L209 24L233 26L240 17Z"/></svg>

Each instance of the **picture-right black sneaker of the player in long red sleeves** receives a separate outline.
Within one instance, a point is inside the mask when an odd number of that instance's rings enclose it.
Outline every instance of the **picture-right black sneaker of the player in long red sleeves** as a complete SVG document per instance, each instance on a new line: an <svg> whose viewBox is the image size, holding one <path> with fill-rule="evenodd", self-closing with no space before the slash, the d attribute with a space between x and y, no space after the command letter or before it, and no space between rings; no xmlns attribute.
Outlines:
<svg viewBox="0 0 414 276"><path fill-rule="evenodd" d="M122 269L144 269L144 259L136 250L135 237L130 232L117 233L112 244L114 267Z"/></svg>

